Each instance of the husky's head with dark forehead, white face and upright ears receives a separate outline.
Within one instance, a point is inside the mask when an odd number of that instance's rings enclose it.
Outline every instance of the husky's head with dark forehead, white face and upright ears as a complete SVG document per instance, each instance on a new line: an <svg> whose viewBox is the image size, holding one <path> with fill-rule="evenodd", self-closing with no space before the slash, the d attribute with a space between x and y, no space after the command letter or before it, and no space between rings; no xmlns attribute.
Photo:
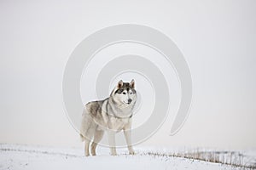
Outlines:
<svg viewBox="0 0 256 170"><path fill-rule="evenodd" d="M119 103L125 105L135 104L137 100L137 93L135 90L135 82L132 79L131 82L123 82L120 80L116 88L113 91L113 97Z"/></svg>

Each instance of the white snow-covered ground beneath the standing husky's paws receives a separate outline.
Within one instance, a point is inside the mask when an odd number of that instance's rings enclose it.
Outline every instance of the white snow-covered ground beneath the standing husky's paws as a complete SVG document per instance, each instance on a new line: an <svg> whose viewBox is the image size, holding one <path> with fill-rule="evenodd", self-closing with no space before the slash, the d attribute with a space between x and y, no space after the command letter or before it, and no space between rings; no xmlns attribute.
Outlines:
<svg viewBox="0 0 256 170"><path fill-rule="evenodd" d="M160 152L136 147L135 150L137 151L135 156L127 155L125 149L118 150L119 156L109 156L108 148L99 147L97 150L99 156L84 157L82 148L0 144L0 169L240 169L220 163L166 156L167 151L163 150ZM247 160L254 163L255 152L250 152L248 156Z"/></svg>

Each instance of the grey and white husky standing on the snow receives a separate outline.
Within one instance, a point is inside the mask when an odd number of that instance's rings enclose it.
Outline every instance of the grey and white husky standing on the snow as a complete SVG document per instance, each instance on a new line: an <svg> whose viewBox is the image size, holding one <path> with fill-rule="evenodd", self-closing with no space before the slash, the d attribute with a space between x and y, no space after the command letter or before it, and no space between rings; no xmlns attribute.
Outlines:
<svg viewBox="0 0 256 170"><path fill-rule="evenodd" d="M96 145L105 131L108 133L111 155L116 156L115 133L121 130L125 133L129 153L134 154L131 145L131 117L137 100L134 84L134 80L120 80L107 99L92 101L84 106L80 137L85 143L85 156L96 156Z"/></svg>

